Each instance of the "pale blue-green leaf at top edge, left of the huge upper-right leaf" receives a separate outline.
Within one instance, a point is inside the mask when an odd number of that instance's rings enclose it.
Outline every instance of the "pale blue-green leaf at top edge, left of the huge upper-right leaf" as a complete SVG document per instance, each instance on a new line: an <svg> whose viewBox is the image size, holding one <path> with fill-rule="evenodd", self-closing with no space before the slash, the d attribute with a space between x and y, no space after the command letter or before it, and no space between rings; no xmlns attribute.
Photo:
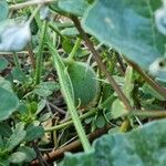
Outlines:
<svg viewBox="0 0 166 166"><path fill-rule="evenodd" d="M89 7L87 0L62 0L58 4L61 10L79 17L83 15Z"/></svg>

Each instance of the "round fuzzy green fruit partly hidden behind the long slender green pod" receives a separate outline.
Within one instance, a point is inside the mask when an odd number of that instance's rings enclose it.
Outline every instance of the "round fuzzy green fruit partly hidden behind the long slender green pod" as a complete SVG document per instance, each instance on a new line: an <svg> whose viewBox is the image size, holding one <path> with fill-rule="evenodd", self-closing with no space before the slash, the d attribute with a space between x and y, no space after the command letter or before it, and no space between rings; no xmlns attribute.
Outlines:
<svg viewBox="0 0 166 166"><path fill-rule="evenodd" d="M66 61L68 72L73 85L75 104L87 106L97 95L98 81L94 70L86 63Z"/></svg>

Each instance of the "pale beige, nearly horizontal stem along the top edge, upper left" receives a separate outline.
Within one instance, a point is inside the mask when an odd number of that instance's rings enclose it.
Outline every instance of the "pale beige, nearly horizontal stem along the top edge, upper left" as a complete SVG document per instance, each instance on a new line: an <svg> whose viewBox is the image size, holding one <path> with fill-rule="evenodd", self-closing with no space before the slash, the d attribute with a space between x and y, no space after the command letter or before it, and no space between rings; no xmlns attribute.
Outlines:
<svg viewBox="0 0 166 166"><path fill-rule="evenodd" d="M27 2L22 2L22 3L11 4L9 7L9 9L10 10L18 10L18 9L28 8L28 7L35 6L35 4L44 4L44 3L55 2L55 1L58 1L58 0L33 0L33 1L27 1Z"/></svg>

